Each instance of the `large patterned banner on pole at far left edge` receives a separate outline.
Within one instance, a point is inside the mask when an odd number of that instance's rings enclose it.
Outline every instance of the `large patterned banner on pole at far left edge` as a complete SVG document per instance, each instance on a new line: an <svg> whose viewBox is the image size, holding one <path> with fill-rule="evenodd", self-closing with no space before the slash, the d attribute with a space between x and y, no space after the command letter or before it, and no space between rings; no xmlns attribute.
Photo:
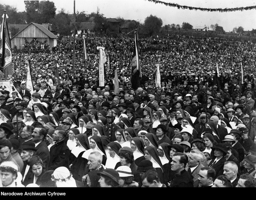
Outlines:
<svg viewBox="0 0 256 200"><path fill-rule="evenodd" d="M4 11L6 12L6 10ZM7 25L7 14L4 13L2 15L3 23L2 23L2 47L0 52L2 53L2 62L0 68L0 79L4 80L12 80L13 69L12 69L12 50L10 43L10 35L8 31Z"/></svg>

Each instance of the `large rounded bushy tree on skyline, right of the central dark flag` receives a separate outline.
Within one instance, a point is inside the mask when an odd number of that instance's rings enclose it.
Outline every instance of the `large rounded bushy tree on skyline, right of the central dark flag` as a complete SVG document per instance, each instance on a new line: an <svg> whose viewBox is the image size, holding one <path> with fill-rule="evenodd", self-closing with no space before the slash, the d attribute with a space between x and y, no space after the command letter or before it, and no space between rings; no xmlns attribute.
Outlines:
<svg viewBox="0 0 256 200"><path fill-rule="evenodd" d="M163 21L161 20L161 18L158 18L153 15L146 17L144 21L145 34L148 35L149 37L151 37L152 35L158 35L162 25L163 25Z"/></svg>

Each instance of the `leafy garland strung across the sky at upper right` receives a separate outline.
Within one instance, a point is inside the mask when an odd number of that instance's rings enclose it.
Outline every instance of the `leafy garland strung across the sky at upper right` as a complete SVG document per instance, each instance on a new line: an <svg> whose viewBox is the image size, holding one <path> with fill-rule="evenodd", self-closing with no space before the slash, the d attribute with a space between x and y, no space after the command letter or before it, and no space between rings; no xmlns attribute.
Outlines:
<svg viewBox="0 0 256 200"><path fill-rule="evenodd" d="M170 7L177 7L178 9L200 10L200 11L207 11L207 12L233 12L233 11L256 9L256 6L239 7L239 8L195 8L195 7L185 6L185 5L178 5L177 3L161 2L158 0L148 0L148 1L154 2L154 3L161 3Z"/></svg>

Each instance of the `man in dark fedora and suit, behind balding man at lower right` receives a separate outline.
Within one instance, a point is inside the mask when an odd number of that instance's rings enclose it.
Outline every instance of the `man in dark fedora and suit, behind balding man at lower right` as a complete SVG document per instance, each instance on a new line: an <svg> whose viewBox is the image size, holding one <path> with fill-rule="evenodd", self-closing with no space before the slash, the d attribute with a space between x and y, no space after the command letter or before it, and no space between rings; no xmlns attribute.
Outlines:
<svg viewBox="0 0 256 200"><path fill-rule="evenodd" d="M218 143L211 147L214 150L214 157L209 163L209 167L214 168L216 177L223 174L224 163L226 162L225 155L227 155L227 147L223 143Z"/></svg>

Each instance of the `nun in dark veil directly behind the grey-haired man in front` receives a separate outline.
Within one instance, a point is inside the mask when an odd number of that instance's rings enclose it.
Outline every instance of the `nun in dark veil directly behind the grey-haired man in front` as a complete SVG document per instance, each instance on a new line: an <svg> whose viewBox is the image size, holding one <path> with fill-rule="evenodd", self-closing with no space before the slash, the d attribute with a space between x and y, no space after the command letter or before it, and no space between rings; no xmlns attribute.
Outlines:
<svg viewBox="0 0 256 200"><path fill-rule="evenodd" d="M107 155L102 144L102 140L99 136L93 135L90 140L90 149L83 153L82 157L88 160L91 152L100 152L102 155L102 164L105 165L107 161Z"/></svg>

